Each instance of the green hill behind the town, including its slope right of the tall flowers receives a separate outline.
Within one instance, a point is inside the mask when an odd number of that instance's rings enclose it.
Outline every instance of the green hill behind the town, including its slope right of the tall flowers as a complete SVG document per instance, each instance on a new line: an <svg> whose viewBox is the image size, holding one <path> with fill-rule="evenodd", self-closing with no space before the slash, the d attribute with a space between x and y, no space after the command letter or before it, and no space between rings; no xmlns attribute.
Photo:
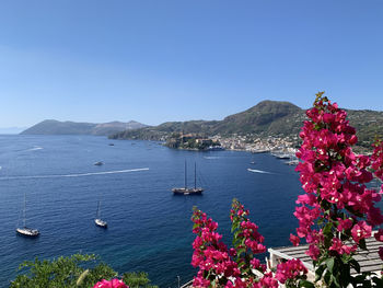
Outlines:
<svg viewBox="0 0 383 288"><path fill-rule="evenodd" d="M347 113L350 124L357 128L361 146L370 147L375 135L383 138L383 112L347 110ZM292 103L263 101L222 120L167 122L159 126L120 131L109 138L164 140L172 133L181 131L206 136L298 136L305 118L305 110Z"/></svg>

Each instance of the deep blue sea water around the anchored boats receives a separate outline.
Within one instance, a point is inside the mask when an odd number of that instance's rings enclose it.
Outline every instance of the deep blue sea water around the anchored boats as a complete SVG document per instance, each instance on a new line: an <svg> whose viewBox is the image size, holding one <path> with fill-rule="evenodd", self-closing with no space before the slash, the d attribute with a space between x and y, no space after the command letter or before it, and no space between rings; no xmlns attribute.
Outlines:
<svg viewBox="0 0 383 288"><path fill-rule="evenodd" d="M96 136L0 136L0 287L8 287L24 260L78 252L95 253L120 273L148 272L160 287L176 287L177 276L186 283L196 273L193 206L219 222L230 244L234 197L249 209L267 246L289 244L298 224L294 200L302 193L293 166L269 154L109 142ZM184 185L185 160L190 184L197 163L202 196L171 192ZM26 223L39 229L37 239L15 234L24 194ZM106 230L93 222L98 199Z"/></svg>

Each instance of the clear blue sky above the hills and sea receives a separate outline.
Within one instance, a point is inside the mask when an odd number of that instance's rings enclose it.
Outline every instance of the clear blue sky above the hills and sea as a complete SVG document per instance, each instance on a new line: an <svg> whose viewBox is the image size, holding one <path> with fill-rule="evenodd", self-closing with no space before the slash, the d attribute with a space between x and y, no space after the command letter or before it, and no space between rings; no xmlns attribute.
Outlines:
<svg viewBox="0 0 383 288"><path fill-rule="evenodd" d="M221 119L262 100L383 111L383 1L0 2L0 127Z"/></svg>

